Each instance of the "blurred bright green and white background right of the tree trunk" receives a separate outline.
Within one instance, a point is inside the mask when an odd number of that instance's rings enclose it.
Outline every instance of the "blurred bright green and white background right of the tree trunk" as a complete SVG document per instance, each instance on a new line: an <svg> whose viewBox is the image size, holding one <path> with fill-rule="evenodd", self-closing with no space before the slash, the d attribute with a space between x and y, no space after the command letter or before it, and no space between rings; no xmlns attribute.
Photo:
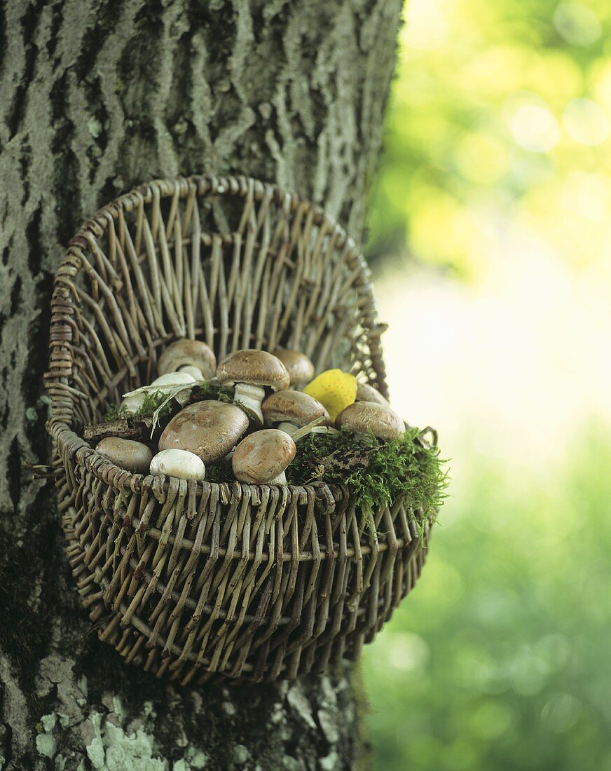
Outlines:
<svg viewBox="0 0 611 771"><path fill-rule="evenodd" d="M405 16L368 252L394 406L452 483L364 653L375 768L605 771L611 3Z"/></svg>

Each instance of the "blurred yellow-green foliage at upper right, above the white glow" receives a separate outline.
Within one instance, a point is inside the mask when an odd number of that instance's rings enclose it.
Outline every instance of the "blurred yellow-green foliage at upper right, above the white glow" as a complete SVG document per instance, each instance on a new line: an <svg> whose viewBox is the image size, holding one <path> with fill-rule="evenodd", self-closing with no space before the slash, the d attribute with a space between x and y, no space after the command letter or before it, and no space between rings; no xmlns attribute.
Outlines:
<svg viewBox="0 0 611 771"><path fill-rule="evenodd" d="M472 276L516 227L588 264L611 204L609 0L409 0L369 249Z"/></svg>

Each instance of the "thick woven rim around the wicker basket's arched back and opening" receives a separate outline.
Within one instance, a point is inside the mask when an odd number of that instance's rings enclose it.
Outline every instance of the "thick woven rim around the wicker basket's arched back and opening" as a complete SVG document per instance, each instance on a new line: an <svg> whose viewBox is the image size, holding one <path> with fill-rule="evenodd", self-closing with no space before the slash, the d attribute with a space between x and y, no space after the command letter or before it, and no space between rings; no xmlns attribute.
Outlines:
<svg viewBox="0 0 611 771"><path fill-rule="evenodd" d="M75 393L75 389L72 389L69 385L68 378L65 376L65 372L62 372L62 366L58 366L55 369L55 365L64 362L62 357L62 349L65 350L66 346L62 343L72 342L72 329L69 329L68 336L65 332L65 322L59 318L59 314L55 314L55 310L65 312L69 306L76 305L75 298L72 297L70 291L66 291L65 285L63 285L64 277L72 278L82 269L82 261L86 260L83 254L84 250L88 250L91 247L92 240L96 240L101 237L109 226L110 220L118 220L119 217L126 213L129 214L136 207L143 204L150 204L156 198L167 198L174 196L177 200L184 199L190 194L195 194L199 197L213 197L217 195L230 195L233 197L247 197L248 194L253 196L253 200L260 202L267 195L270 199L274 200L277 205L284 204L288 207L291 213L297 211L300 207L307 205L312 212L313 222L317 226L325 225L336 236L337 248L344 249L343 260L347 264L353 264L355 268L361 271L361 274L365 279L370 278L371 271L367 262L364 259L363 254L356 246L354 239L347 234L344 227L337 223L333 218L325 214L324 209L318 204L314 204L307 197L300 196L290 190L286 190L283 187L275 183L264 182L257 180L254 177L247 177L245 175L216 175L216 174L191 174L188 176L179 175L177 177L160 177L155 180L140 184L134 187L129 192L116 197L108 204L100 207L92 217L86 220L79 231L72 236L68 243L68 247L65 250L63 259L57 271L55 271L55 291L52 295L51 301L51 325L49 333L49 369L45 372L45 388L51 392L51 417L47 422L47 430L49 434L55 439L58 444L60 454L66 449L70 455L82 466L92 473L96 478L111 484L112 487L131 487L133 490L140 490L146 480L155 480L163 478L163 490L167 489L169 480L174 477L166 476L152 476L142 475L127 471L125 469L116 466L109 460L103 459L96 453L96 450L92 448L82 439L70 423L67 422L65 412L56 404L56 396L53 393L55 389L60 389L67 393ZM217 234L223 239L233 238L236 231L230 231L228 234ZM374 294L371 284L368 281L364 281L359 284L358 291L361 295L364 295L368 301L371 301L372 307L374 306ZM383 322L378 322L377 313L373 314L374 325L368 326L368 332L374 334L370 336L370 344L376 345L378 358L382 362L381 371L378 372L378 383L380 390L384 396L388 396L388 385L386 384L386 372L381 359L381 347L379 338L382 332L387 328L387 325ZM372 353L374 353L372 351ZM98 461L98 458L100 461ZM184 481L184 480L183 480ZM204 487L217 485L223 487L221 483L203 482L196 483L198 492L203 490ZM246 485L243 483L235 482L225 483L224 487L228 487L230 490L233 486L238 488L256 488L262 490L264 488L280 487L285 488L290 492L291 497L294 494L301 494L300 491L311 490L327 490L327 495L330 503L334 503L335 500L341 500L344 496L349 496L350 493L347 488L339 485L334 485L334 491L336 494L331 493L330 487L327 483L317 483L315 485L307 483L305 485ZM338 493L338 497L337 497ZM233 497L233 493L232 493ZM325 496L327 497L327 496Z"/></svg>

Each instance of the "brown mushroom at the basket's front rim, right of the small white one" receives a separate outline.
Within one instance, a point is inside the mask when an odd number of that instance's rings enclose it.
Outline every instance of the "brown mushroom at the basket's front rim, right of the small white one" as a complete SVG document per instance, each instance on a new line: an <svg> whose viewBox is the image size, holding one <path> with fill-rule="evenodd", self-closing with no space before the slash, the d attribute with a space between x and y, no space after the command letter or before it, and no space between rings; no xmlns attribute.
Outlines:
<svg viewBox="0 0 611 771"><path fill-rule="evenodd" d="M296 452L297 446L284 431L255 431L236 447L231 459L233 474L248 484L286 484L284 470Z"/></svg>

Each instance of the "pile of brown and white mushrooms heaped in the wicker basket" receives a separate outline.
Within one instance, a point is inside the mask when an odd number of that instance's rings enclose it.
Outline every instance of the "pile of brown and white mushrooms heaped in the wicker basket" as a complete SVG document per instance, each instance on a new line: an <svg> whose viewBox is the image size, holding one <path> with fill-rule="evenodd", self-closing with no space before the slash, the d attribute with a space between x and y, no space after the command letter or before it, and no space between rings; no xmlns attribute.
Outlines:
<svg viewBox="0 0 611 771"><path fill-rule="evenodd" d="M286 484L285 471L307 433L337 429L401 436L405 424L372 385L329 369L314 377L306 355L288 348L245 349L220 362L205 342L176 340L157 362L158 377L124 396L119 414L136 415L146 394L176 399L177 409L158 442L104 436L96 452L125 470L203 480L206 465L231 463L236 480ZM203 397L196 386L213 383L232 403Z"/></svg>

